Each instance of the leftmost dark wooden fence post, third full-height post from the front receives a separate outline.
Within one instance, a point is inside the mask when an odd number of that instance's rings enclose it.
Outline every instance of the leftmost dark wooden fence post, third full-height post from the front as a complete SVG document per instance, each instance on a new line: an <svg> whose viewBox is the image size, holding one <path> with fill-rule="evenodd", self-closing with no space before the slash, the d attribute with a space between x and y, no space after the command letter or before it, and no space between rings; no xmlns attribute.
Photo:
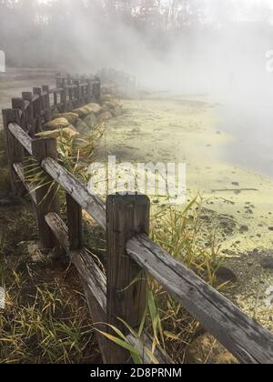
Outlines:
<svg viewBox="0 0 273 382"><path fill-rule="evenodd" d="M15 136L13 136L10 133L8 129L8 125L12 122L19 125L20 113L18 109L5 109L2 111L2 114L5 134L6 157L9 167L11 190L15 193L15 195L21 196L25 192L25 186L22 184L19 177L15 174L13 165L15 163L23 162L24 148L17 141Z"/></svg>

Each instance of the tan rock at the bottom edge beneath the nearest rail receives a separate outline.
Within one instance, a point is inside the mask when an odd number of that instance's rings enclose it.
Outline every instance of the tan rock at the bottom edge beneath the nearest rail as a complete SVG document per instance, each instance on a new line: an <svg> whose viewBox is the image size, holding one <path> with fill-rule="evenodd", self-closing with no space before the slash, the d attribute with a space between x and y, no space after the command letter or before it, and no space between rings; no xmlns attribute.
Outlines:
<svg viewBox="0 0 273 382"><path fill-rule="evenodd" d="M209 334L197 337L197 339L192 342L187 348L186 359L188 364L238 364L238 360Z"/></svg>

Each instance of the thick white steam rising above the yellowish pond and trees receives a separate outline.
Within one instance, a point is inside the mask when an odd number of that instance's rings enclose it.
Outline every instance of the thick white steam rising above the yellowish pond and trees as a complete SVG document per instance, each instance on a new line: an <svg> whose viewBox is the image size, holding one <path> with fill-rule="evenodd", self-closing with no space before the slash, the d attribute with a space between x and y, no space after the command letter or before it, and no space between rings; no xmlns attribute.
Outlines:
<svg viewBox="0 0 273 382"><path fill-rule="evenodd" d="M207 94L240 156L255 152L273 175L272 23L271 0L2 1L0 50L9 65L115 67L151 89Z"/></svg>

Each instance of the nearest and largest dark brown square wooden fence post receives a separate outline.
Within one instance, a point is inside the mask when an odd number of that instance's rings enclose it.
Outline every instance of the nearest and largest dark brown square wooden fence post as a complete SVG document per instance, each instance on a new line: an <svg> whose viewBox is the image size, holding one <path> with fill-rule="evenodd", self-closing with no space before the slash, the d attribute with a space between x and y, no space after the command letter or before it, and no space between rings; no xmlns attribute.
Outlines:
<svg viewBox="0 0 273 382"><path fill-rule="evenodd" d="M136 234L148 234L149 210L150 202L144 195L116 194L107 197L107 323L119 328L125 335L128 331L118 318L136 329L140 326L147 304L145 273L127 255L126 243ZM114 342L109 341L107 350L109 364L131 362L129 353Z"/></svg>

